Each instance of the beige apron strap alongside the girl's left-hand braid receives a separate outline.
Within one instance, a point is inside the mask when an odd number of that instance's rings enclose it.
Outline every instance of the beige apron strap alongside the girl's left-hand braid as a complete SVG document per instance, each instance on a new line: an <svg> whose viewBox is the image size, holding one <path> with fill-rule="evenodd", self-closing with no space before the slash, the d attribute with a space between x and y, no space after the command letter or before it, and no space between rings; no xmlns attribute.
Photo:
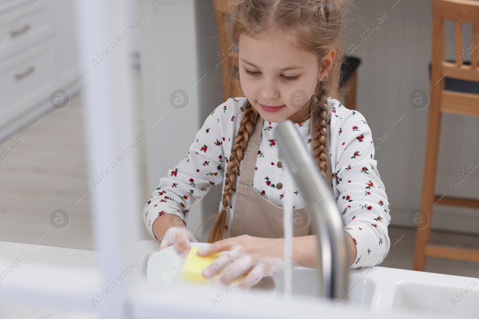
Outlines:
<svg viewBox="0 0 479 319"><path fill-rule="evenodd" d="M254 127L254 131L248 139L246 144L246 151L241 160L241 171L239 173L239 182L247 186L253 185L254 167L256 166L256 159L258 158L258 150L260 149L261 134L263 129L263 119L258 113L258 120Z"/></svg>

